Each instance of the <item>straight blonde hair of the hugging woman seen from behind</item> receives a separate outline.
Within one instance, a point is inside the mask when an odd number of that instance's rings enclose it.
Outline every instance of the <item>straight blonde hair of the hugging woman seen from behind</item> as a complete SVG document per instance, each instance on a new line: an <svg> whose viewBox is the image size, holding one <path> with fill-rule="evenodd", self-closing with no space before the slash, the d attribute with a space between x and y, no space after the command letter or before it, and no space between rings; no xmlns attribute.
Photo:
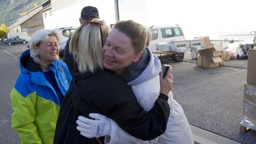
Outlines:
<svg viewBox="0 0 256 144"><path fill-rule="evenodd" d="M92 22L101 24L89 22L82 24L72 34L69 43L69 52L73 54L81 73L104 69L102 48L108 33L110 33L110 27L104 21L99 21L98 18L94 18ZM103 40L103 44L101 40Z"/></svg>

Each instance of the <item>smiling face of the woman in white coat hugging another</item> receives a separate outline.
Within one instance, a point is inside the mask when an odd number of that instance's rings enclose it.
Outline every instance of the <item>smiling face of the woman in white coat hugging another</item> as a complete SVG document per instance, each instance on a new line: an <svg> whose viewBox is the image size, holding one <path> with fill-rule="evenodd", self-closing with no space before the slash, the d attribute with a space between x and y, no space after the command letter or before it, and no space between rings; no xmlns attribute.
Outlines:
<svg viewBox="0 0 256 144"><path fill-rule="evenodd" d="M142 55L141 52L135 53L130 38L116 28L108 34L103 53L104 67L117 75L121 75L127 66L137 62Z"/></svg>

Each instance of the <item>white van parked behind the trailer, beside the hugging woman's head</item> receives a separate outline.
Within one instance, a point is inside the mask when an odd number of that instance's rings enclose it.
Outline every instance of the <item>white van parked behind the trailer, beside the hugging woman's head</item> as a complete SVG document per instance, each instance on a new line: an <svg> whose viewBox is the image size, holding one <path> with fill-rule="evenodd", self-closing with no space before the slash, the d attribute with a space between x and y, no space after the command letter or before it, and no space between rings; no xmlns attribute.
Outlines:
<svg viewBox="0 0 256 144"><path fill-rule="evenodd" d="M185 39L183 31L181 30L181 27L177 24L152 25L145 28L147 31L149 31L149 33L151 33L151 36L152 36L152 41L149 44L149 49L151 49L152 52L158 52L158 49L156 49L157 43L162 43L162 42L169 43L170 41ZM156 54L156 55L160 56L159 54ZM164 57L171 58L175 62L181 62L184 58L184 53L169 52L169 54L164 55Z"/></svg>

